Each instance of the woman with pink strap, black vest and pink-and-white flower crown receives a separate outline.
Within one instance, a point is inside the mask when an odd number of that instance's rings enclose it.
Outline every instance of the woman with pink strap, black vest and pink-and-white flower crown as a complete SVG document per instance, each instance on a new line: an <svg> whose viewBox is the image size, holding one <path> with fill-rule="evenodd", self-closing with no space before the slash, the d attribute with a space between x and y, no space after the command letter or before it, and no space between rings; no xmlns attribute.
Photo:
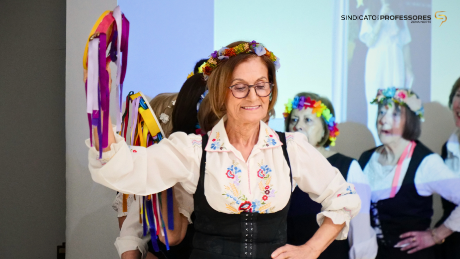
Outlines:
<svg viewBox="0 0 460 259"><path fill-rule="evenodd" d="M377 259L433 259L433 246L460 231L457 177L418 140L422 101L411 90L380 89L377 131L383 145L364 152L359 163L371 186L371 225L377 234ZM433 193L456 208L441 226L430 229Z"/></svg>

